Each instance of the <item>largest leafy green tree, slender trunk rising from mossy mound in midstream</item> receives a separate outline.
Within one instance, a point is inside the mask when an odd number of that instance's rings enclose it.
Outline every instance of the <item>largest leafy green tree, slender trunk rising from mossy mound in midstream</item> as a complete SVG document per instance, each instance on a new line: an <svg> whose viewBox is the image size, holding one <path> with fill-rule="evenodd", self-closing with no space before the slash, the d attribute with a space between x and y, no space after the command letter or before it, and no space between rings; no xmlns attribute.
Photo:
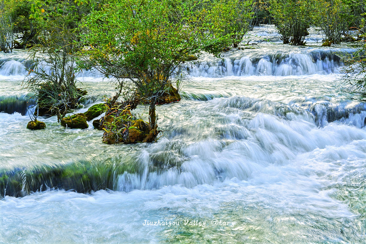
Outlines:
<svg viewBox="0 0 366 244"><path fill-rule="evenodd" d="M126 99L138 94L148 103L152 129L156 101L178 79L178 67L202 51L218 56L232 43L235 33L226 33L228 23L217 15L221 1L208 3L112 1L87 17L85 64L117 79Z"/></svg>

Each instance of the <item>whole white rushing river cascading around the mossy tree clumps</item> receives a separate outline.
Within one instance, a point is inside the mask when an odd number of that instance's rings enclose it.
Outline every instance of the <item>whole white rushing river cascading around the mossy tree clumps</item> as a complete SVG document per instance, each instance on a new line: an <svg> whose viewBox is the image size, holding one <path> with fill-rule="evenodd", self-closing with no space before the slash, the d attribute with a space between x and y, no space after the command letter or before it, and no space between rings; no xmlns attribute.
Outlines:
<svg viewBox="0 0 366 244"><path fill-rule="evenodd" d="M182 67L182 101L157 106L162 137L134 145L55 117L27 130L17 67L32 64L1 54L0 243L366 243L366 103L337 75L352 50L319 40ZM80 112L114 92L80 79Z"/></svg>

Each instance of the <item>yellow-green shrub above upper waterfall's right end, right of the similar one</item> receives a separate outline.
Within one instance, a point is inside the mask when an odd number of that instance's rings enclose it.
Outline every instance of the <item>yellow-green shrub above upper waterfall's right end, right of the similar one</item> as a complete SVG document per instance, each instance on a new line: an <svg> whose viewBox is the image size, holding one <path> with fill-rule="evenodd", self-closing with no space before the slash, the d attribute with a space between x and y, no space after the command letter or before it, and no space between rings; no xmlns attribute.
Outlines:
<svg viewBox="0 0 366 244"><path fill-rule="evenodd" d="M348 30L349 8L342 0L318 0L315 23L319 26L328 43L340 43Z"/></svg>

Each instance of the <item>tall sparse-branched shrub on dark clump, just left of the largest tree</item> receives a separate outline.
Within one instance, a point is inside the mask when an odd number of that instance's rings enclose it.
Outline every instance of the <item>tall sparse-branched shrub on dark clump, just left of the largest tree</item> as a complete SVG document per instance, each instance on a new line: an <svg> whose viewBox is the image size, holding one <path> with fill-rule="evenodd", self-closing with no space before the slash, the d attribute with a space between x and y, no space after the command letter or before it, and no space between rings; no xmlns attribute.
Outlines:
<svg viewBox="0 0 366 244"><path fill-rule="evenodd" d="M57 114L60 120L83 95L76 87L74 56L81 48L77 27L82 16L74 1L53 1L44 8L43 18L38 18L42 28L40 44L31 49L36 67L24 80L24 86L38 95L42 114Z"/></svg>

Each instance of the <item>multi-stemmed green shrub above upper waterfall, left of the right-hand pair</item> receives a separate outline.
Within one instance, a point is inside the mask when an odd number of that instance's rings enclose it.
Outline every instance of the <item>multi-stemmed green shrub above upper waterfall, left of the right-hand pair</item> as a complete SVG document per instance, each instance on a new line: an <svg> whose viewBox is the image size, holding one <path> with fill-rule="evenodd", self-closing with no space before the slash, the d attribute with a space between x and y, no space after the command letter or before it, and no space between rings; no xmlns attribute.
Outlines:
<svg viewBox="0 0 366 244"><path fill-rule="evenodd" d="M313 0L269 0L268 11L284 44L304 45L314 14Z"/></svg>

